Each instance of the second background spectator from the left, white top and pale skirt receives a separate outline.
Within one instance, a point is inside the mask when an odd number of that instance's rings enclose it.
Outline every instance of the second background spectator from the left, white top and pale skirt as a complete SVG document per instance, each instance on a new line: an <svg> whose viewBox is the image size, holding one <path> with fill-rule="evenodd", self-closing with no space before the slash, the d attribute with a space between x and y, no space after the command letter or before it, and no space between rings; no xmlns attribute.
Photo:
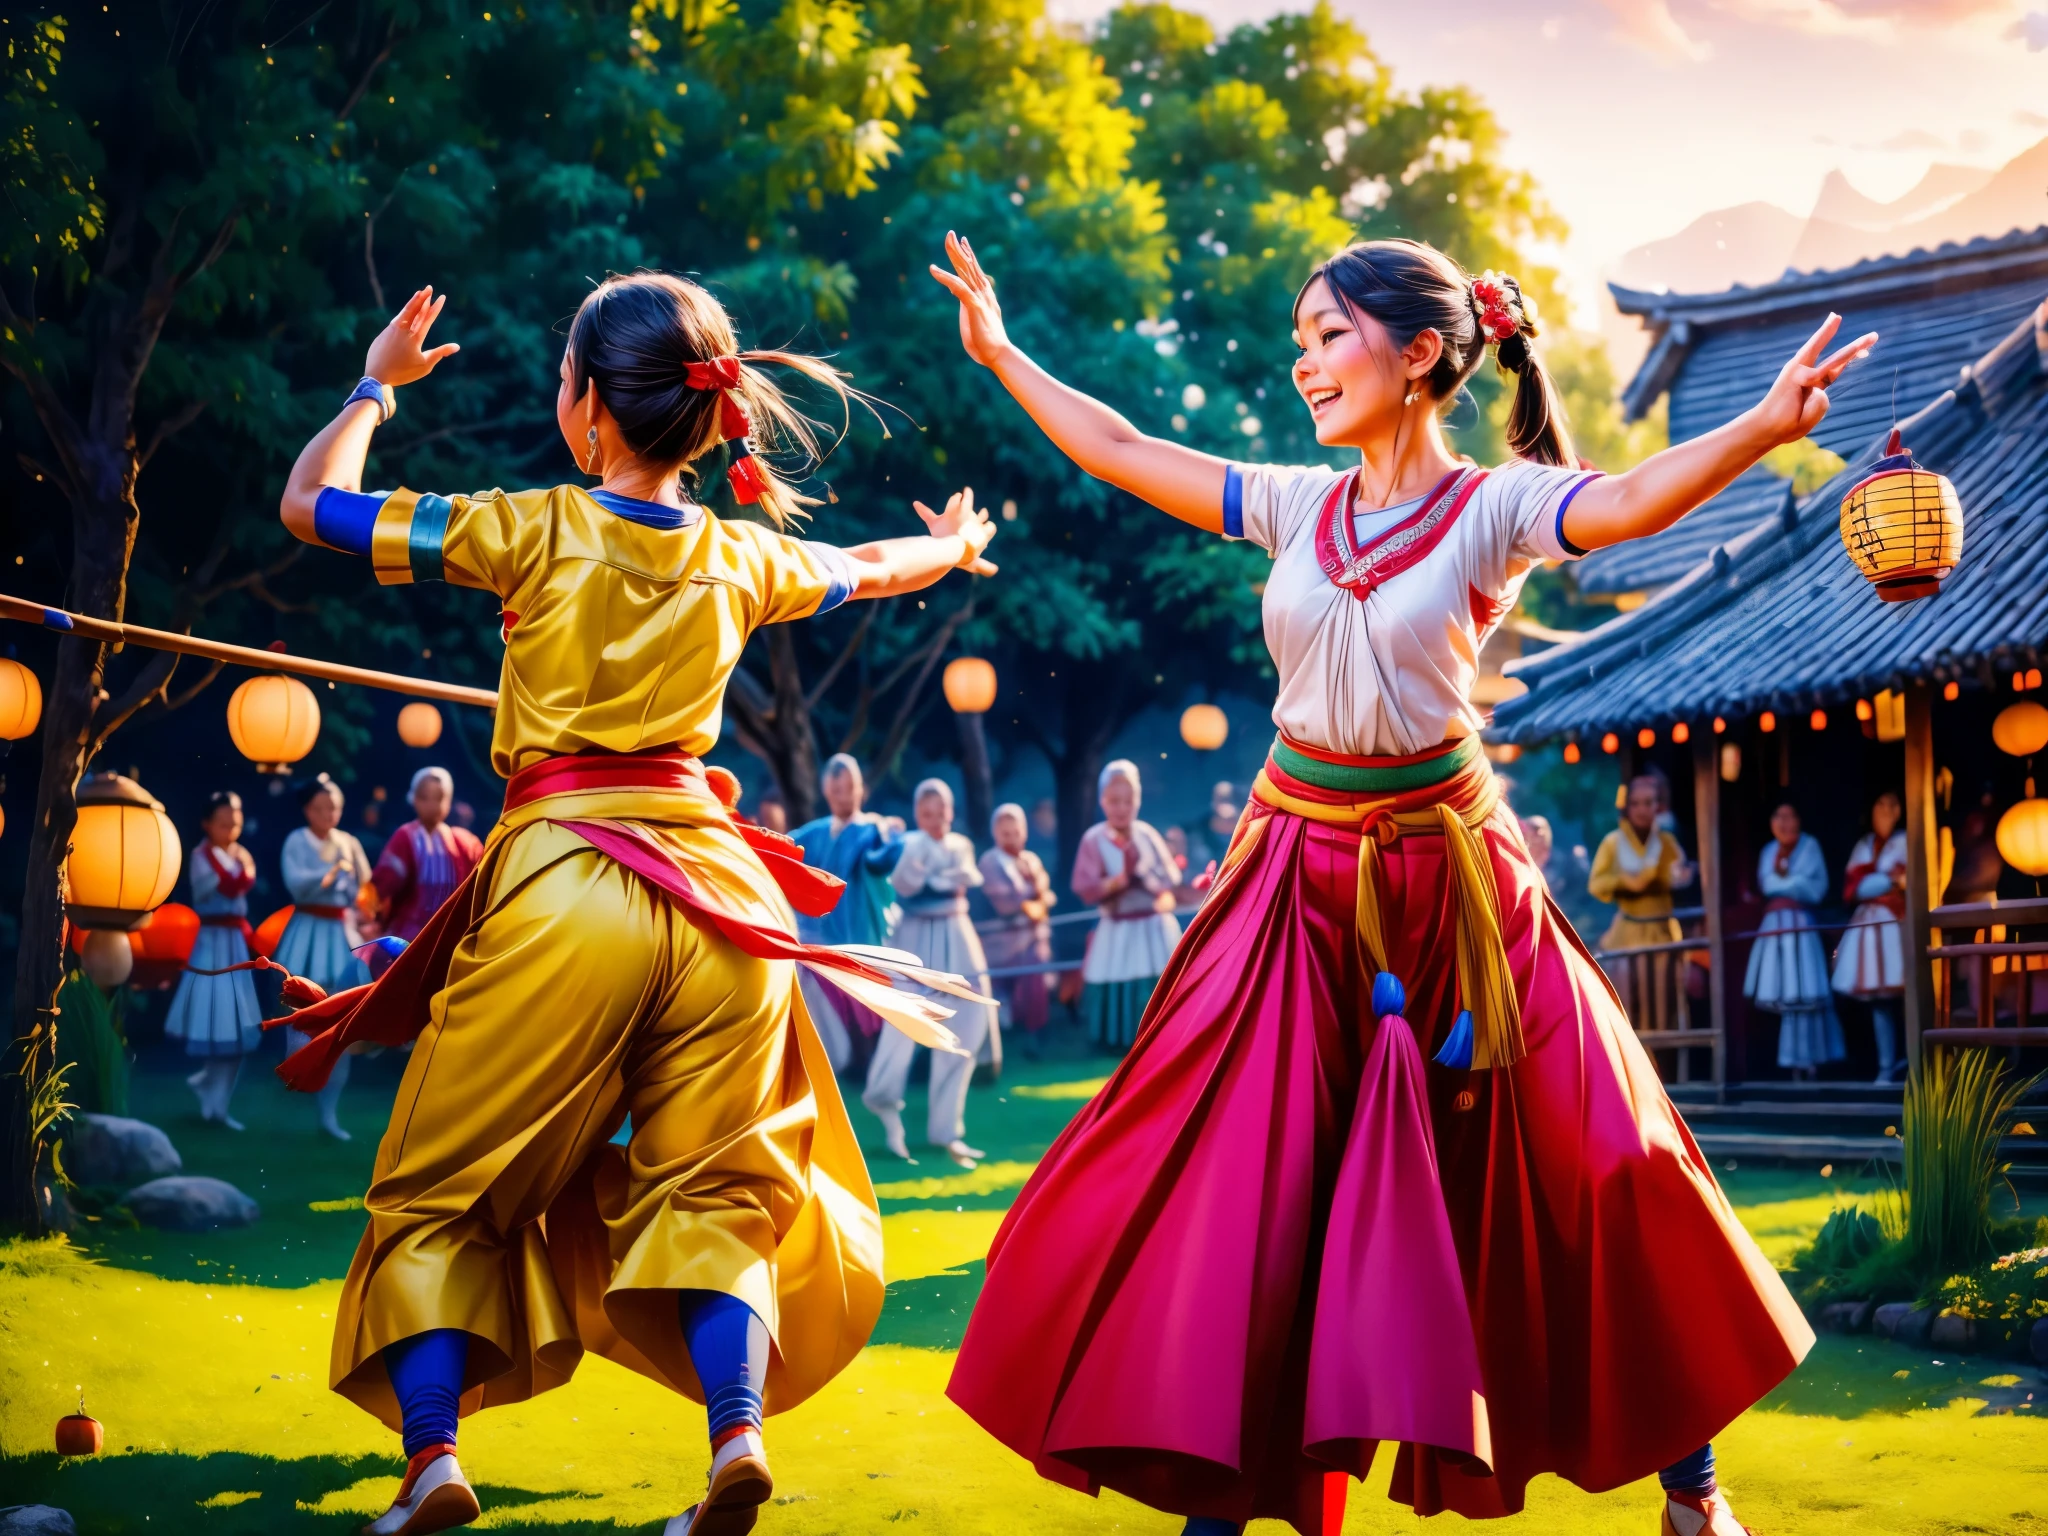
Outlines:
<svg viewBox="0 0 2048 1536"><path fill-rule="evenodd" d="M371 969L356 954L362 934L356 928L356 895L371 879L371 860L354 834L340 829L342 786L319 774L299 793L305 825L285 838L285 893L297 911L285 924L285 936L270 958L297 977L305 977L330 993L360 987ZM287 1026L291 1051L307 1038ZM348 1057L334 1063L334 1075L315 1094L319 1128L336 1141L348 1141L342 1128L342 1087L348 1085Z"/></svg>

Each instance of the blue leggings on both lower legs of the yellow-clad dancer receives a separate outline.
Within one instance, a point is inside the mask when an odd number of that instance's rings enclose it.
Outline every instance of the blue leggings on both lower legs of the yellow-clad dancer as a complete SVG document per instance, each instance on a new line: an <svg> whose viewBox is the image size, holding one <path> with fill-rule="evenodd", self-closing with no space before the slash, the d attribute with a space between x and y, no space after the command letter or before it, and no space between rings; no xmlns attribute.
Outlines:
<svg viewBox="0 0 2048 1536"><path fill-rule="evenodd" d="M705 1386L713 1438L729 1430L760 1430L768 1327L752 1307L723 1290L678 1292L676 1313L690 1364ZM418 1456L428 1446L453 1446L469 1335L459 1327L428 1329L385 1346L383 1360L406 1423L406 1456Z"/></svg>

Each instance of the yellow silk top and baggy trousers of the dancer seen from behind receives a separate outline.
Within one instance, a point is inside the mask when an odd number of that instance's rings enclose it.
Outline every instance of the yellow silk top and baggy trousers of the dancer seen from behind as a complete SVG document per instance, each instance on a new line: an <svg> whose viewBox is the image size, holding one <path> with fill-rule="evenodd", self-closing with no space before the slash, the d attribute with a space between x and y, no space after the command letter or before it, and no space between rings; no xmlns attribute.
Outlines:
<svg viewBox="0 0 2048 1536"><path fill-rule="evenodd" d="M446 578L504 606L500 772L702 752L754 627L848 588L836 551L707 512L643 526L575 487L397 492L371 553L383 582ZM586 1350L702 1401L676 1292L723 1290L768 1325L776 1413L881 1313L874 1190L791 963L692 924L567 819L637 825L719 905L795 930L709 795L557 793L500 821L336 1309L332 1384L393 1427L381 1352L426 1329L471 1335L465 1413L561 1384Z"/></svg>

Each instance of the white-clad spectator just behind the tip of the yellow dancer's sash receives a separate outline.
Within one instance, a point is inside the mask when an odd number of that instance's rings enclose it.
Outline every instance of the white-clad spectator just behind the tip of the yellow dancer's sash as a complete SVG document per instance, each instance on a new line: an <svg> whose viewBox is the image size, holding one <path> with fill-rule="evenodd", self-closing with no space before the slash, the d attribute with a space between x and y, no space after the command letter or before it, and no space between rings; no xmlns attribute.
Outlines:
<svg viewBox="0 0 2048 1536"><path fill-rule="evenodd" d="M989 963L967 915L967 893L981 885L975 844L952 829L952 788L944 778L918 784L915 809L918 829L903 836L903 854L889 872L903 909L889 942L934 971L967 977L969 985L989 995ZM969 1055L932 1053L926 1139L961 1167L975 1167L983 1153L967 1145L967 1085L973 1081L975 1061L985 1053L993 1053L993 1065L1001 1069L1001 1034L991 1028L989 1010L973 1004L961 1006L946 1022ZM903 1030L885 1026L860 1094L860 1102L883 1122L883 1143L905 1159L909 1143L903 1137L903 1102L915 1053L918 1047Z"/></svg>

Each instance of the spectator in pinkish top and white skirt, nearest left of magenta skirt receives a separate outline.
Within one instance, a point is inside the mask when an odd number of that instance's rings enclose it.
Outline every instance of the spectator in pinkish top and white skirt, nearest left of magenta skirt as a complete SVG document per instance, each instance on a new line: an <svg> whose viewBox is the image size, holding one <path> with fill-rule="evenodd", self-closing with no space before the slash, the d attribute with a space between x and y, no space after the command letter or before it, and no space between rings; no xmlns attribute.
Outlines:
<svg viewBox="0 0 2048 1536"><path fill-rule="evenodd" d="M1174 887L1180 868L1165 838L1139 821L1143 788L1128 758L1096 780L1102 821L1073 852L1073 893L1102 913L1081 961L1081 1022L1098 1051L1122 1055L1139 1038L1145 1004L1180 942Z"/></svg>

